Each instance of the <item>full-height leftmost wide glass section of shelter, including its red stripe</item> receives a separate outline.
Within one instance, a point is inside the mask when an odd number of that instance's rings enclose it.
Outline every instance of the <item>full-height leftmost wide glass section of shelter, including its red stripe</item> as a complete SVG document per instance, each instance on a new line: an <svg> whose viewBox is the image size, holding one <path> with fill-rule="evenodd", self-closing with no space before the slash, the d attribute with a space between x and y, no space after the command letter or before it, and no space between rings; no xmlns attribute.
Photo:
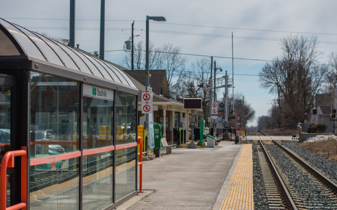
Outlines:
<svg viewBox="0 0 337 210"><path fill-rule="evenodd" d="M79 99L79 82L31 72L29 188L34 209L79 209Z"/></svg>

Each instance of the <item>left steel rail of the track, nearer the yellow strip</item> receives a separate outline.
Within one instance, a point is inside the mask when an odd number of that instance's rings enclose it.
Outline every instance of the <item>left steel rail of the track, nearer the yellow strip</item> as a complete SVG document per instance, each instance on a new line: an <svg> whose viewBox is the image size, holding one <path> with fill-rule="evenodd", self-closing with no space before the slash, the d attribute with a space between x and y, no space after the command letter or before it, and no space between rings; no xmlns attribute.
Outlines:
<svg viewBox="0 0 337 210"><path fill-rule="evenodd" d="M255 134L256 134L256 136L259 138L259 142L260 142L260 144L261 144L261 146L262 146L263 153L265 154L265 157L266 157L266 160L267 160L267 162L268 162L268 165L269 165L269 167L270 167L272 173L275 174L275 177L276 177L276 179L277 179L279 185L281 186L281 189L282 189L282 191L283 191L283 194L284 194L284 196L285 196L285 198L286 198L286 200L287 200L287 202L288 202L288 204L289 204L288 207L289 207L290 209L297 210L297 207L296 207L296 205L295 205L295 202L294 202L294 200L292 199L292 197L290 196L290 193L288 192L287 187L285 186L285 184L284 184L284 182L283 182L283 180L282 180L280 174L278 173L278 171L277 171L277 169L276 169L276 167L275 167L273 161L271 160L270 156L268 155L267 150L266 150L265 146L263 145L263 143L262 143L262 141L261 141L261 138L257 135L256 132L255 132Z"/></svg>

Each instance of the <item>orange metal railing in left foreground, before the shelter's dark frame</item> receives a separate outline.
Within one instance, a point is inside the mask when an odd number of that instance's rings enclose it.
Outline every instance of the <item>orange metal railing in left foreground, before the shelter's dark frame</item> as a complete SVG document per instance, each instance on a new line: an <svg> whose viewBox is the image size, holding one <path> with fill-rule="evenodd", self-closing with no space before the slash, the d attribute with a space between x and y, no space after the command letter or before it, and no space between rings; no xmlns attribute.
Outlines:
<svg viewBox="0 0 337 210"><path fill-rule="evenodd" d="M6 172L7 168L14 167L16 156L21 156L21 203L6 208ZM27 209L27 147L22 146L21 150L8 151L3 156L0 166L0 210Z"/></svg>

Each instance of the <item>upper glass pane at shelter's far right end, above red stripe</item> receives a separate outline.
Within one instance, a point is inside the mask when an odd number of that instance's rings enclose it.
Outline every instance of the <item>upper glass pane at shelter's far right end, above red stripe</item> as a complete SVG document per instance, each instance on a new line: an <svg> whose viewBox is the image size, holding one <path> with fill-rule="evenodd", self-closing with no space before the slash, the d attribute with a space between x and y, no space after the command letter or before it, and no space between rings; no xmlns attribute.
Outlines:
<svg viewBox="0 0 337 210"><path fill-rule="evenodd" d="M136 96L116 92L116 145L137 142Z"/></svg>

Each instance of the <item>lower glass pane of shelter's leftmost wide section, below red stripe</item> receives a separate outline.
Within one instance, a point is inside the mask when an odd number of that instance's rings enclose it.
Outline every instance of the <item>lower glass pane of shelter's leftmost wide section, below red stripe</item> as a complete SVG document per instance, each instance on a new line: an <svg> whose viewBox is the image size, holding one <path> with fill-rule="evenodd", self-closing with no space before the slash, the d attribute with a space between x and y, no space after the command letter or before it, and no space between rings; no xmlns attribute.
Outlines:
<svg viewBox="0 0 337 210"><path fill-rule="evenodd" d="M30 166L29 179L31 209L79 209L78 157Z"/></svg>

